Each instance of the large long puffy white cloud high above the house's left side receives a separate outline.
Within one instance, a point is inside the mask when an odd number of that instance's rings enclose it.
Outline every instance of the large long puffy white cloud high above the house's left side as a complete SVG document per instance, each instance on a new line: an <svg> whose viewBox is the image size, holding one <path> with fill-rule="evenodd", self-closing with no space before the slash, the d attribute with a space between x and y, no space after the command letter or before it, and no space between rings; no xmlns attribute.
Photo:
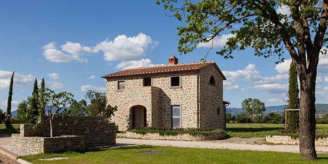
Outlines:
<svg viewBox="0 0 328 164"><path fill-rule="evenodd" d="M66 42L60 46L61 50L58 50L55 43L51 42L44 46L43 54L47 60L54 63L70 63L74 60L87 63L88 59L85 56L99 51L104 53L104 59L107 61L129 60L146 55L157 44L158 42L153 42L150 36L139 33L132 37L118 35L114 40L106 39L94 47Z"/></svg>

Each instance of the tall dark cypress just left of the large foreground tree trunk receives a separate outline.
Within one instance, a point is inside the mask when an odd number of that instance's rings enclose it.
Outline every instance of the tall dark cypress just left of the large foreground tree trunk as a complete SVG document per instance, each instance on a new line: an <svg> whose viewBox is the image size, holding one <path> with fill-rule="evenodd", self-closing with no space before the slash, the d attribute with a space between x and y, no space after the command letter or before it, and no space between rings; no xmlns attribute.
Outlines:
<svg viewBox="0 0 328 164"><path fill-rule="evenodd" d="M299 109L299 89L297 81L297 70L293 63L289 69L288 108ZM297 130L299 128L299 111L288 111L288 128Z"/></svg>

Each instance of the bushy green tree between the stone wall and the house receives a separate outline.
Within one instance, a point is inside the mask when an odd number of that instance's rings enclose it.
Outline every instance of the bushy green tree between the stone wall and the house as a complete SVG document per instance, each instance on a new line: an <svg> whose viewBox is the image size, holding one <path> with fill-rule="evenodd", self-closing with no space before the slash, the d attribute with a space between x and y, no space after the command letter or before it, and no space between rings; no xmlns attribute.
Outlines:
<svg viewBox="0 0 328 164"><path fill-rule="evenodd" d="M90 101L90 104L87 106L88 116L100 116L109 120L114 115L114 112L117 111L117 106L112 107L108 104L105 93L89 90L86 98Z"/></svg>

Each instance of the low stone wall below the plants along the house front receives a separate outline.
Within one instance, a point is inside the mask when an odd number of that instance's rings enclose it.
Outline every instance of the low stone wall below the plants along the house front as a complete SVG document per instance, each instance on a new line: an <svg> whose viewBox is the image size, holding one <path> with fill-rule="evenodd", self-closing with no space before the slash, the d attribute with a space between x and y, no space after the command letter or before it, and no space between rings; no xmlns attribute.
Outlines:
<svg viewBox="0 0 328 164"><path fill-rule="evenodd" d="M209 135L190 135L190 134L179 134L176 136L171 135L159 135L158 133L147 133L147 134L138 134L134 132L124 132L124 133L117 133L116 137L119 138L138 138L138 139L167 139L167 140L217 140L226 137L226 133L215 133Z"/></svg>

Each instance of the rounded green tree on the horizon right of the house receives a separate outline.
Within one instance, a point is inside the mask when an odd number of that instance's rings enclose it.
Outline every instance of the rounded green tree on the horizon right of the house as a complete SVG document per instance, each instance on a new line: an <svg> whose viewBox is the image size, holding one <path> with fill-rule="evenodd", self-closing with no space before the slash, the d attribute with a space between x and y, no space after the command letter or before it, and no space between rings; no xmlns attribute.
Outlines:
<svg viewBox="0 0 328 164"><path fill-rule="evenodd" d="M257 117L263 115L263 112L265 111L265 104L256 98L247 98L242 101L241 108L246 111L254 122L257 120Z"/></svg>

